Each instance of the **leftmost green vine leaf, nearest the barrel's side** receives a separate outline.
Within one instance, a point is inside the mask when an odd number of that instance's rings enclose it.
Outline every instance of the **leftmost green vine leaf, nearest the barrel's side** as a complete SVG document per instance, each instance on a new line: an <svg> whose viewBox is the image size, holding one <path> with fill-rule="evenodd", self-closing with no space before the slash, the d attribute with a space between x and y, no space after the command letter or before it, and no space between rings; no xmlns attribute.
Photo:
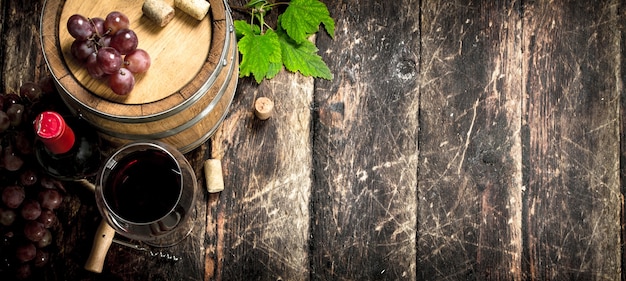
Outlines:
<svg viewBox="0 0 626 281"><path fill-rule="evenodd" d="M263 78L276 75L276 64L282 64L280 41L276 32L267 30L265 34L259 35L250 30L242 30L242 34L244 36L237 44L241 53L239 77L252 74L256 82L261 83Z"/></svg>

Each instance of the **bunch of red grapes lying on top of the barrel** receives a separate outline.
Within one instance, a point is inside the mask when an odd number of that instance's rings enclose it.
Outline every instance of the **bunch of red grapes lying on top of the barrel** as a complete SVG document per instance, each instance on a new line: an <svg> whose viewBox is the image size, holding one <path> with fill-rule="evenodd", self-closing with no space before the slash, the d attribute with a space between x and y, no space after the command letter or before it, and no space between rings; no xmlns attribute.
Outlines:
<svg viewBox="0 0 626 281"><path fill-rule="evenodd" d="M118 95L130 93L135 87L134 74L150 68L148 52L137 48L137 34L121 12L110 12L104 19L72 15L67 31L74 38L72 56L83 62L91 77L106 79Z"/></svg>

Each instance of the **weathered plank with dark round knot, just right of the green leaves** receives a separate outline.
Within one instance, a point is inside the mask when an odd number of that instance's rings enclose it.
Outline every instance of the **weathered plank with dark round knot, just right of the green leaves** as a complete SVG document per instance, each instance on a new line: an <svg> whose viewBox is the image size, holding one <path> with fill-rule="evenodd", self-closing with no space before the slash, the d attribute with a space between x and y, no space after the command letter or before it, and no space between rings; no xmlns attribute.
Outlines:
<svg viewBox="0 0 626 281"><path fill-rule="evenodd" d="M311 276L415 280L419 1L325 1L318 37Z"/></svg>

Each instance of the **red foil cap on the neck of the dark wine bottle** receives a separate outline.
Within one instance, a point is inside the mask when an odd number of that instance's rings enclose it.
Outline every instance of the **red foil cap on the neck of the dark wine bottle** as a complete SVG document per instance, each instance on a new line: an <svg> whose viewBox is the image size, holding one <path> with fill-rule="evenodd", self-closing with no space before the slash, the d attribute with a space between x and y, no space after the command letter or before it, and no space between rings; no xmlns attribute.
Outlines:
<svg viewBox="0 0 626 281"><path fill-rule="evenodd" d="M74 146L74 131L60 114L52 111L40 113L35 119L35 132L43 144L54 154L68 152Z"/></svg>

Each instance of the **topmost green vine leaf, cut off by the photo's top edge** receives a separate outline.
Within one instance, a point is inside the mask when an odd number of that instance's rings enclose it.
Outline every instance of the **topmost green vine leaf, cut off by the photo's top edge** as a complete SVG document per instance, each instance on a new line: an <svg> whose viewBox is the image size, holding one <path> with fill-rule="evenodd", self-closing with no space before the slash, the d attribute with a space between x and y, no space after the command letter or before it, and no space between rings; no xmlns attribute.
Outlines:
<svg viewBox="0 0 626 281"><path fill-rule="evenodd" d="M326 32L331 37L335 36L335 21L326 5L319 0L292 0L281 17L280 25L298 44L315 34L322 23Z"/></svg>

